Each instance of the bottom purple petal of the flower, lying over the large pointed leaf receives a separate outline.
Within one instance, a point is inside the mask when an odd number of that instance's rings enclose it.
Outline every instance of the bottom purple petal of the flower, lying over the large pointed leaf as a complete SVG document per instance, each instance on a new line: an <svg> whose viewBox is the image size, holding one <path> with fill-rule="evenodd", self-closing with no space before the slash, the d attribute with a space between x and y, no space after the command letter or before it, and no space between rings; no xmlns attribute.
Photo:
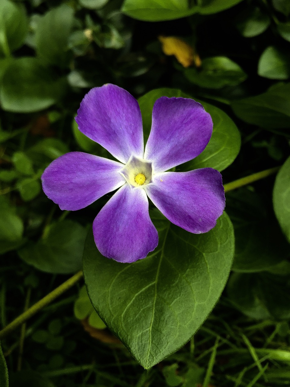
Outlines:
<svg viewBox="0 0 290 387"><path fill-rule="evenodd" d="M126 184L101 209L93 224L97 248L107 258L130 263L145 258L158 244L142 188Z"/></svg>

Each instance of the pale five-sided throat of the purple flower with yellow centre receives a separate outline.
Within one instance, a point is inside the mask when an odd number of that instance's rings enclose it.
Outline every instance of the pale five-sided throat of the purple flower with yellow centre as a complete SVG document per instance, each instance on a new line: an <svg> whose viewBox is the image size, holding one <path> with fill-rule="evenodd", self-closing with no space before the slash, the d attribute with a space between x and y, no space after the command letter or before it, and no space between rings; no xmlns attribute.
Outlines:
<svg viewBox="0 0 290 387"><path fill-rule="evenodd" d="M142 188L152 182L152 163L132 155L120 173L131 187Z"/></svg>

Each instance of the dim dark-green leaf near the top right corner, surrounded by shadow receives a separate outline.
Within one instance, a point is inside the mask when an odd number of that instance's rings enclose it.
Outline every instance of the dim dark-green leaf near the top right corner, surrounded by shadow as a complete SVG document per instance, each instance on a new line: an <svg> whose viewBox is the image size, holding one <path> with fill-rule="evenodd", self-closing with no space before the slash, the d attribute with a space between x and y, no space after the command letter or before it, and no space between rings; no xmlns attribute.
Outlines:
<svg viewBox="0 0 290 387"><path fill-rule="evenodd" d="M245 38L252 38L262 34L270 26L270 17L258 7L247 8L246 12L239 15L237 28Z"/></svg>

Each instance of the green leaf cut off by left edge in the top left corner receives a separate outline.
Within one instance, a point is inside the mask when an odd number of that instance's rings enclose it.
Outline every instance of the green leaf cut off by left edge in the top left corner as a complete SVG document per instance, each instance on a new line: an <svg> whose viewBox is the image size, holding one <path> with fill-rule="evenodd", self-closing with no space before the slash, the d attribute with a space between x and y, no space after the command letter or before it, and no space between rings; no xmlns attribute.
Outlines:
<svg viewBox="0 0 290 387"><path fill-rule="evenodd" d="M25 8L9 0L0 1L0 56L9 57L10 53L25 41L28 19Z"/></svg>

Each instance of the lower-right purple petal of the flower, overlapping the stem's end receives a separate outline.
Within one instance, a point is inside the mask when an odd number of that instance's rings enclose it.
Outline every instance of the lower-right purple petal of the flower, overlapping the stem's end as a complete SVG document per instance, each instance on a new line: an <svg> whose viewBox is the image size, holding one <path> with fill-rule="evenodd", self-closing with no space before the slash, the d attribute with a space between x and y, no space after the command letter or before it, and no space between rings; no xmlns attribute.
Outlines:
<svg viewBox="0 0 290 387"><path fill-rule="evenodd" d="M194 234L212 229L225 208L222 175L212 168L158 173L144 189L167 219Z"/></svg>

